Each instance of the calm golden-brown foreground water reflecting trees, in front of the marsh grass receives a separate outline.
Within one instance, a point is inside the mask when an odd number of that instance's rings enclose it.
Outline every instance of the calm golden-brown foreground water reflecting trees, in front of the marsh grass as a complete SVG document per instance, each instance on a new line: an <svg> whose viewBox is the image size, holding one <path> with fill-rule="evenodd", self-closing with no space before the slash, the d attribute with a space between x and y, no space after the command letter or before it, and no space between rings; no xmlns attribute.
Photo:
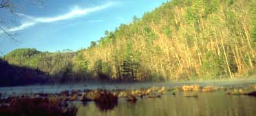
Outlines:
<svg viewBox="0 0 256 116"><path fill-rule="evenodd" d="M233 116L256 114L256 98L249 96L229 96L224 92L198 93L198 98L186 98L184 93L172 96L167 93L161 98L138 98L137 102L127 102L125 98L118 100L114 106L101 106L88 102L86 106L78 106L80 115L109 115L109 116Z"/></svg>

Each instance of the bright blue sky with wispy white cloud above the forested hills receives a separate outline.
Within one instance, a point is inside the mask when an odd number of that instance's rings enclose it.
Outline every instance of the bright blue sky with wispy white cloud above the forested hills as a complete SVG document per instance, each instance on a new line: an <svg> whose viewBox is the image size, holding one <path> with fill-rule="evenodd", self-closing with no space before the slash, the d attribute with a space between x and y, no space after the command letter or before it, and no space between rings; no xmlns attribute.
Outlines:
<svg viewBox="0 0 256 116"><path fill-rule="evenodd" d="M0 9L3 27L16 41L0 31L0 55L16 48L41 51L79 50L114 31L120 24L131 23L167 0L44 0L36 5L28 0L15 14Z"/></svg>

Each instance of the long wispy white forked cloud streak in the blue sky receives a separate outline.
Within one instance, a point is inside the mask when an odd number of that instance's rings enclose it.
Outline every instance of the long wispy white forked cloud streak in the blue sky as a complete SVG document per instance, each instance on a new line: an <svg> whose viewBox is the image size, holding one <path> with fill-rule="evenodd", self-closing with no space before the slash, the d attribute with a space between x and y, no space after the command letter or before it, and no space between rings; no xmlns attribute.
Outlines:
<svg viewBox="0 0 256 116"><path fill-rule="evenodd" d="M85 16L91 12L104 10L113 5L116 5L116 3L113 3L113 2L105 3L103 5L98 5L94 8L79 8L78 6L76 6L70 12L67 12L66 14L62 14L59 16L54 16L54 17L34 17L26 14L17 13L17 15L27 18L28 21L21 23L21 25L19 25L18 27L12 27L10 29L6 29L6 31L7 32L20 31L20 30L32 27L38 23L53 23L56 21L68 20L68 19L79 17L79 16ZM102 22L102 21L103 20L92 20L92 22Z"/></svg>

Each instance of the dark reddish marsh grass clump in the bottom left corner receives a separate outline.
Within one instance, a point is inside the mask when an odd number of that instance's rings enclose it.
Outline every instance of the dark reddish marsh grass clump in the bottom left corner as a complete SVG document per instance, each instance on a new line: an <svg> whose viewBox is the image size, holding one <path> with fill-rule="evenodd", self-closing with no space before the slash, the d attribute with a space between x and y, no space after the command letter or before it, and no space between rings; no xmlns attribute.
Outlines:
<svg viewBox="0 0 256 116"><path fill-rule="evenodd" d="M64 106L63 102L47 98L12 98L10 105L0 107L0 115L26 116L72 116L76 115L76 107Z"/></svg>

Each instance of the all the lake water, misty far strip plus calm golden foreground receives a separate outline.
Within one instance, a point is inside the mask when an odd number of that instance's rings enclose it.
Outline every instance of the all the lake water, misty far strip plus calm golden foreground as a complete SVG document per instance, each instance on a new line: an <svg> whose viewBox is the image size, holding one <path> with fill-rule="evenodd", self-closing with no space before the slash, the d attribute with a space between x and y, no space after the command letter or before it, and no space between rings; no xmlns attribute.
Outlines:
<svg viewBox="0 0 256 116"><path fill-rule="evenodd" d="M21 87L0 87L2 98L32 93L59 93L63 90L83 89L137 89L140 87L180 87L182 85L214 85L216 87L246 87L256 84L255 79L238 81L204 81L182 83L81 83L75 85L30 85ZM70 102L78 107L78 116L256 116L256 98L227 95L225 91L198 93L198 98L186 98L184 92L173 96L164 93L161 98L138 98L127 102L119 98L117 104L96 104L95 102Z"/></svg>

